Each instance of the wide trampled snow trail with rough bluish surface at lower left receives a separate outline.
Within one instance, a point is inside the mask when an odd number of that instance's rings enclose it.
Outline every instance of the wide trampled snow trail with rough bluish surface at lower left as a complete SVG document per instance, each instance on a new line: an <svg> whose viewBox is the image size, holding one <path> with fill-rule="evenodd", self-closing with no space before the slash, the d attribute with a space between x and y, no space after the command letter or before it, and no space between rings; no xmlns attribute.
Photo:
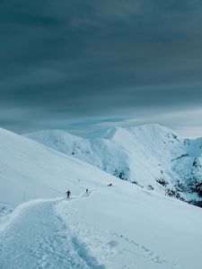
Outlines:
<svg viewBox="0 0 202 269"><path fill-rule="evenodd" d="M26 206L0 233L1 269L105 268L71 235L66 223L55 213L57 203Z"/></svg>

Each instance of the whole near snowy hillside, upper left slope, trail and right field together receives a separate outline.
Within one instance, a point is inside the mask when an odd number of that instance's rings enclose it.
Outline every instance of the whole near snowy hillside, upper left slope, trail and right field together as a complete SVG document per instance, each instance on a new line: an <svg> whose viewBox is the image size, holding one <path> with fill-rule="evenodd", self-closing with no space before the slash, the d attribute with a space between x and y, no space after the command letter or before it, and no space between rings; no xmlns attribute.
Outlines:
<svg viewBox="0 0 202 269"><path fill-rule="evenodd" d="M3 129L0 183L1 269L201 268L201 208Z"/></svg>

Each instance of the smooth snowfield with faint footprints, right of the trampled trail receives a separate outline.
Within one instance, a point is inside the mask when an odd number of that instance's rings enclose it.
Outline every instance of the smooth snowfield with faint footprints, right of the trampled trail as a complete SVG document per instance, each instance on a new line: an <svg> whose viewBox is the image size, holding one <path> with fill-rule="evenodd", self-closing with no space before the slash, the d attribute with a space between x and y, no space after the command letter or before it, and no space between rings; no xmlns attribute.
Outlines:
<svg viewBox="0 0 202 269"><path fill-rule="evenodd" d="M197 207L113 187L57 204L57 212L106 268L200 268Z"/></svg>

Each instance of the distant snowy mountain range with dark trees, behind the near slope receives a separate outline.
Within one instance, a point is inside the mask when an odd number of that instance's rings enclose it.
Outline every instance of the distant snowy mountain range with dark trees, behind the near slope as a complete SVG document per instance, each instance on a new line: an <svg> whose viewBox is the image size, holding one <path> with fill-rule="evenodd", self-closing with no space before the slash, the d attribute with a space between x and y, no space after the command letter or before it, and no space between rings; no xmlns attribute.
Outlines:
<svg viewBox="0 0 202 269"><path fill-rule="evenodd" d="M112 127L85 138L61 130L26 136L118 178L192 203L199 199L202 138L183 139L159 125Z"/></svg>

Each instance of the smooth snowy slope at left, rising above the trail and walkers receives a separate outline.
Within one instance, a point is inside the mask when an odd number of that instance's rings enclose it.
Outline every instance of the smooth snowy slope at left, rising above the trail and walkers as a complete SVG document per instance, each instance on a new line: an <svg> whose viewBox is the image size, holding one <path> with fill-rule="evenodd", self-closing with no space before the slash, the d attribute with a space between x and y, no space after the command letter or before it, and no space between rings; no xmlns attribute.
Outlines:
<svg viewBox="0 0 202 269"><path fill-rule="evenodd" d="M0 202L19 204L65 195L68 188L80 194L86 187L102 187L116 180L109 176L83 161L0 129Z"/></svg>

